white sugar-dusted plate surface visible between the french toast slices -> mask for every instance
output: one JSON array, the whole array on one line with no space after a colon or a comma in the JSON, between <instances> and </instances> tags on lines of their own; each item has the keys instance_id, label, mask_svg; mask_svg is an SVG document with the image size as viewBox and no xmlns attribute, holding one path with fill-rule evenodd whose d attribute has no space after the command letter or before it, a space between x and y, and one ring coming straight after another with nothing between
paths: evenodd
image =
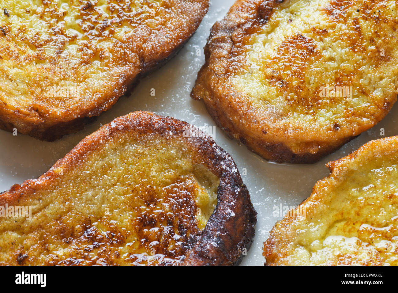
<instances>
[{"instance_id":1,"label":"white sugar-dusted plate surface visible between the french toast slices","mask_svg":"<svg viewBox=\"0 0 398 293\"><path fill-rule=\"evenodd\" d=\"M210 28L226 15L234 0L211 2L210 10L201 26L179 54L164 67L143 79L129 97L123 96L111 110L101 114L98 120L86 126L84 130L65 136L57 142L41 142L29 136L13 136L10 132L0 130L0 191L6 191L13 184L22 183L26 179L39 177L85 136L98 130L101 125L111 122L113 118L135 110L173 116L199 127L215 126L203 102L195 101L189 96L197 72L204 63L203 47ZM197 49L200 56L197 56ZM151 96L152 88L155 89L155 96ZM244 145L228 139L221 129L216 128L213 138L234 158L258 212L254 244L244 258L243 265L264 264L263 242L275 222L282 218L279 215L273 216L273 212L277 211L276 207L296 206L306 199L316 181L329 174L325 167L328 161L347 155L369 140L383 137L380 135L381 128L384 129L385 136L398 134L397 107L394 106L388 116L373 129L313 165L267 162L248 151Z\"/></svg>"}]
</instances>

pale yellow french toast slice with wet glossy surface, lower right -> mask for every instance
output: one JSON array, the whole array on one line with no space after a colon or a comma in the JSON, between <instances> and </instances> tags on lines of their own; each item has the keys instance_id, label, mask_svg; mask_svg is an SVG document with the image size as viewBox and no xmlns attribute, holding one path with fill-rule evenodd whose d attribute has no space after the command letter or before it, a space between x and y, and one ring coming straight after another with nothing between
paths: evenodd
<instances>
[{"instance_id":1,"label":"pale yellow french toast slice with wet glossy surface, lower right","mask_svg":"<svg viewBox=\"0 0 398 293\"><path fill-rule=\"evenodd\" d=\"M328 163L265 242L267 265L398 265L398 136Z\"/></svg>"}]
</instances>

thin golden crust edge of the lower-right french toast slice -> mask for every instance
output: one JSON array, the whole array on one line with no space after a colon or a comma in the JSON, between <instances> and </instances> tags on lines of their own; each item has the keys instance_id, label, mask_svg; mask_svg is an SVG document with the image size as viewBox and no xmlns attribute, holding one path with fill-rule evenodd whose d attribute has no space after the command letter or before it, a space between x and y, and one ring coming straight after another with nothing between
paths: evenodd
<instances>
[{"instance_id":1,"label":"thin golden crust edge of the lower-right french toast slice","mask_svg":"<svg viewBox=\"0 0 398 293\"><path fill-rule=\"evenodd\" d=\"M350 166L362 162L367 162L373 157L388 155L398 150L398 136L391 136L388 138L380 138L378 140L371 140L363 146L359 147L356 151L349 153L349 155L342 157L336 161L330 161L326 167L330 170L330 175L318 181L312 188L311 195L302 201L296 208L296 215L300 214L300 206L305 205L306 211L316 212L316 206L325 201L322 196L322 190L325 187L333 188L337 186L340 179L344 178L345 170ZM333 177L333 180L331 179ZM264 265L278 265L279 256L287 256L286 253L281 252L286 244L286 239L294 239L296 231L288 230L281 232L281 229L293 224L296 216L285 216L282 220L276 222L268 239L264 242L263 256L265 257ZM287 232L287 233L286 233ZM284 263L289 265L288 263Z\"/></svg>"}]
</instances>

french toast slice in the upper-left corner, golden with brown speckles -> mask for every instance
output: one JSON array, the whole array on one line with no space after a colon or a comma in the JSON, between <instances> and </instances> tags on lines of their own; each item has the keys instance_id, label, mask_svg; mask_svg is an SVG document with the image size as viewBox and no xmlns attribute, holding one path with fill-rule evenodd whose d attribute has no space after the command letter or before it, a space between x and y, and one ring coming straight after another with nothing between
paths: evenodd
<instances>
[{"instance_id":1,"label":"french toast slice in the upper-left corner, golden with brown speckles","mask_svg":"<svg viewBox=\"0 0 398 293\"><path fill-rule=\"evenodd\" d=\"M81 129L177 53L208 7L209 0L0 0L0 128L48 141Z\"/></svg>"}]
</instances>

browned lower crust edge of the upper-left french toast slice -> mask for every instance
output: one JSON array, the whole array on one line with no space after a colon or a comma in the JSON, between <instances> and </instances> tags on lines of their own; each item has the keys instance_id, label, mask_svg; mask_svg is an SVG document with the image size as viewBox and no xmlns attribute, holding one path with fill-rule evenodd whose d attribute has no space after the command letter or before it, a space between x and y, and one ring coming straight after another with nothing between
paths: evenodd
<instances>
[{"instance_id":1,"label":"browned lower crust edge of the upper-left french toast slice","mask_svg":"<svg viewBox=\"0 0 398 293\"><path fill-rule=\"evenodd\" d=\"M199 4L198 14L189 11L189 6L184 3L182 10L194 16L191 21L192 30L187 30L181 35L181 42L176 43L173 48L164 52L154 52L151 56L146 56L145 63L142 64L140 72L137 74L132 71L129 76L123 76L117 88L109 92L103 98L103 103L94 108L82 108L80 112L74 114L74 117L65 115L61 119L49 119L36 111L23 111L19 109L10 109L7 104L0 101L0 129L13 132L17 129L21 134L27 134L39 140L53 142L62 138L62 136L78 132L84 125L94 120L102 112L109 110L130 87L133 89L137 81L142 79L152 71L159 69L172 59L182 47L189 41L201 24L203 17L209 10L209 0L195 0Z\"/></svg>"}]
</instances>

